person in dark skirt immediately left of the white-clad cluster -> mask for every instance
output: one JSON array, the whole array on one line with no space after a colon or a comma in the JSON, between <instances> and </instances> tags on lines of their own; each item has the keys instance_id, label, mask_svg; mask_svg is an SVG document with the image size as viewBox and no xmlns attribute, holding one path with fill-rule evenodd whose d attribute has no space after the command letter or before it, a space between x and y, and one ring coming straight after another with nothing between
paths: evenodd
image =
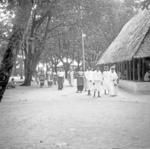
<instances>
[{"instance_id":1,"label":"person in dark skirt immediately left of the white-clad cluster","mask_svg":"<svg viewBox=\"0 0 150 149\"><path fill-rule=\"evenodd\" d=\"M82 71L79 71L77 74L77 93L82 92L84 87L84 74Z\"/></svg>"}]
</instances>

